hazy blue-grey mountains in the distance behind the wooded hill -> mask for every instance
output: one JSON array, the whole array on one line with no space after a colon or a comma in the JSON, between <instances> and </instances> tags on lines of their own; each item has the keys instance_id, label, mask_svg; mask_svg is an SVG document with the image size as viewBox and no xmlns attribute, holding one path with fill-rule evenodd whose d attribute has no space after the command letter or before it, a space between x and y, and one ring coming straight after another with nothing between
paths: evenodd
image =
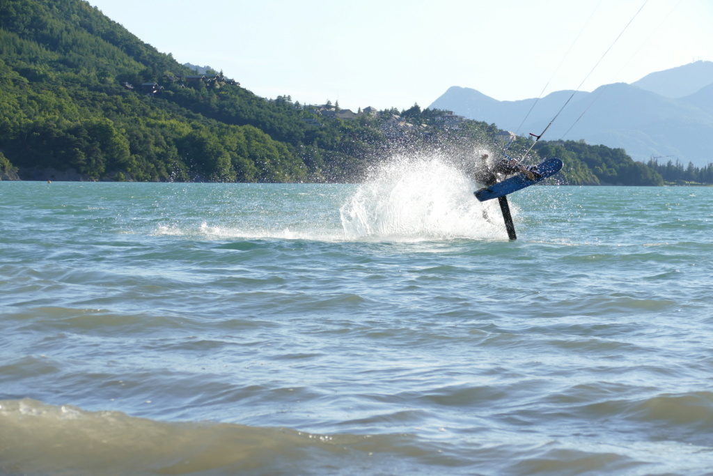
<instances>
[{"instance_id":1,"label":"hazy blue-grey mountains in the distance behind the wooded hill","mask_svg":"<svg viewBox=\"0 0 713 476\"><path fill-rule=\"evenodd\" d=\"M557 91L539 101L498 101L475 89L453 86L429 108L495 123L526 136L541 133L572 93ZM657 71L635 83L608 84L591 93L578 91L543 140L584 139L589 144L624 148L637 161L655 157L660 162L679 160L702 167L713 162L711 136L713 62L696 61Z\"/></svg>"}]
</instances>

